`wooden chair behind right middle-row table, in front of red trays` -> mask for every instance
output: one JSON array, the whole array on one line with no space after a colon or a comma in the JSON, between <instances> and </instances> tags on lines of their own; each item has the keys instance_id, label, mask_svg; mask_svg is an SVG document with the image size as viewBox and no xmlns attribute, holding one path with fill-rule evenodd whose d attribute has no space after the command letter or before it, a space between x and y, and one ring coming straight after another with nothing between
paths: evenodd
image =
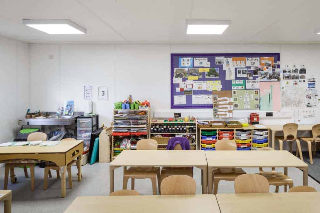
<instances>
[{"instance_id":1,"label":"wooden chair behind right middle-row table, in front of red trays","mask_svg":"<svg viewBox=\"0 0 320 213\"><path fill-rule=\"evenodd\" d=\"M234 140L218 140L215 145L216 150L237 150ZM246 174L241 168L218 168L213 171L213 194L218 193L220 180L234 181L239 175ZM212 187L212 183L209 183Z\"/></svg>"}]
</instances>

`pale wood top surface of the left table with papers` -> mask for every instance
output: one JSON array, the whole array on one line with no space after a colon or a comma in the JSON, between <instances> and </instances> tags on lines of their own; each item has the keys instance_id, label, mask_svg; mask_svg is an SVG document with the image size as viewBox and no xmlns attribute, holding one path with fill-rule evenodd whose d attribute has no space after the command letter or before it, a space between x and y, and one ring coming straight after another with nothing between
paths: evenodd
<instances>
[{"instance_id":1,"label":"pale wood top surface of the left table with papers","mask_svg":"<svg viewBox=\"0 0 320 213\"><path fill-rule=\"evenodd\" d=\"M56 146L11 146L0 147L1 154L65 153L82 141L62 141Z\"/></svg>"}]
</instances>

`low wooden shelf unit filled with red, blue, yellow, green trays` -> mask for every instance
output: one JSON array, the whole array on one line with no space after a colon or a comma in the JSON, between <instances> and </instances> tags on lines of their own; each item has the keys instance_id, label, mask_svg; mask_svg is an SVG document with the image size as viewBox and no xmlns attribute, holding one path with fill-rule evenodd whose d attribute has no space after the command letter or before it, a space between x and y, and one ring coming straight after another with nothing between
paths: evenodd
<instances>
[{"instance_id":1,"label":"low wooden shelf unit filled with red, blue, yellow, green trays","mask_svg":"<svg viewBox=\"0 0 320 213\"><path fill-rule=\"evenodd\" d=\"M211 134L210 134L211 133ZM269 147L269 128L257 128L253 125L242 128L199 128L199 144L202 150L215 150L217 140L234 140L237 150L259 150L262 147ZM205 135L215 139L202 140Z\"/></svg>"}]
</instances>

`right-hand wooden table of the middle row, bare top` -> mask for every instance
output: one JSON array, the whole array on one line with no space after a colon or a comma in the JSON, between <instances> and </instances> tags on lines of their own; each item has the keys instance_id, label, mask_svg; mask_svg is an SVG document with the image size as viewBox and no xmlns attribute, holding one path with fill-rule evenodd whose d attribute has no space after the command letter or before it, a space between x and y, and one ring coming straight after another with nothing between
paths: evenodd
<instances>
[{"instance_id":1,"label":"right-hand wooden table of the middle row, bare top","mask_svg":"<svg viewBox=\"0 0 320 213\"><path fill-rule=\"evenodd\" d=\"M303 185L308 186L308 164L286 150L275 151L205 151L208 162L209 194L212 194L212 172L218 168L283 167L288 175L288 167L303 171ZM285 186L286 187L286 186Z\"/></svg>"}]
</instances>

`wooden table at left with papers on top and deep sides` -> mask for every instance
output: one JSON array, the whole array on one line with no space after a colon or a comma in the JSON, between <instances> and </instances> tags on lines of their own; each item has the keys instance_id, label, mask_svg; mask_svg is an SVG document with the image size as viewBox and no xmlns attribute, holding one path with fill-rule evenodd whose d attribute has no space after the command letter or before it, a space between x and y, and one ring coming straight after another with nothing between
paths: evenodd
<instances>
[{"instance_id":1,"label":"wooden table at left with papers on top and deep sides","mask_svg":"<svg viewBox=\"0 0 320 213\"><path fill-rule=\"evenodd\" d=\"M60 166L61 171L61 197L66 196L66 171L67 165L78 157L79 175L81 181L81 159L83 141L62 141L56 146L12 146L0 147L0 163L16 162L16 159L36 159L51 161Z\"/></svg>"}]
</instances>

